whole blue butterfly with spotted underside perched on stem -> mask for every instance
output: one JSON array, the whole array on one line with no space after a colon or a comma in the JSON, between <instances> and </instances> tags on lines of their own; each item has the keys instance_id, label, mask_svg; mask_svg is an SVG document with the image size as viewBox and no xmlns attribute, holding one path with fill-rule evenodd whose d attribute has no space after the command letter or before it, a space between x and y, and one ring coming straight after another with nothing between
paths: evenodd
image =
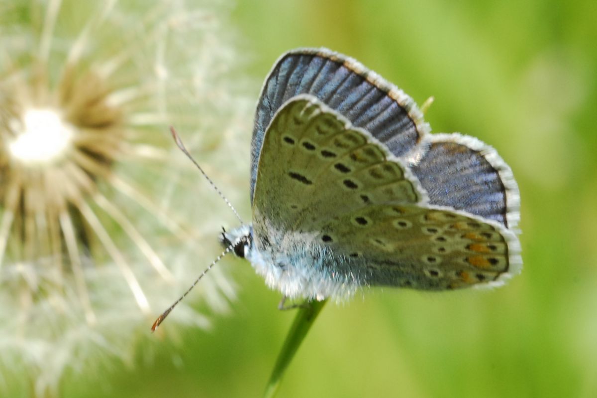
<instances>
[{"instance_id":1,"label":"whole blue butterfly with spotted underside perched on stem","mask_svg":"<svg viewBox=\"0 0 597 398\"><path fill-rule=\"evenodd\" d=\"M267 76L250 186L253 222L221 240L284 297L496 286L522 266L496 150L430 134L413 99L329 49L287 52Z\"/></svg>"}]
</instances>

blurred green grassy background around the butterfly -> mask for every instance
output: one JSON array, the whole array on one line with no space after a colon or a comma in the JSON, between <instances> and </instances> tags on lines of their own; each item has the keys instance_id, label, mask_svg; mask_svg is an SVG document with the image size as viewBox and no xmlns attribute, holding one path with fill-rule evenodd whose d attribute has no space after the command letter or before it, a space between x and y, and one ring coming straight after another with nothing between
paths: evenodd
<instances>
[{"instance_id":1,"label":"blurred green grassy background around the butterfly","mask_svg":"<svg viewBox=\"0 0 597 398\"><path fill-rule=\"evenodd\" d=\"M279 396L597 396L597 3L268 0L232 13L255 101L282 52L327 46L418 104L433 95L433 132L496 147L522 197L521 275L494 291L385 289L328 304ZM249 150L236 154L247 180ZM134 366L71 374L64 395L259 397L294 315L248 263L219 266L239 297L210 332L187 330L179 348L156 338Z\"/></svg>"}]
</instances>

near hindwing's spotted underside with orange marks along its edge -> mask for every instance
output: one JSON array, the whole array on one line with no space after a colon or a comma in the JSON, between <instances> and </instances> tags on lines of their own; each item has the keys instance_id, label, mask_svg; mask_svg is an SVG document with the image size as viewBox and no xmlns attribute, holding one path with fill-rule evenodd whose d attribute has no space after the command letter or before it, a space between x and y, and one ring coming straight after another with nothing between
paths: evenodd
<instances>
[{"instance_id":1,"label":"near hindwing's spotted underside with orange marks along its edge","mask_svg":"<svg viewBox=\"0 0 597 398\"><path fill-rule=\"evenodd\" d=\"M435 207L373 205L322 223L318 239L361 284L445 290L497 281L516 267L496 222ZM512 266L511 266L512 263Z\"/></svg>"}]
</instances>

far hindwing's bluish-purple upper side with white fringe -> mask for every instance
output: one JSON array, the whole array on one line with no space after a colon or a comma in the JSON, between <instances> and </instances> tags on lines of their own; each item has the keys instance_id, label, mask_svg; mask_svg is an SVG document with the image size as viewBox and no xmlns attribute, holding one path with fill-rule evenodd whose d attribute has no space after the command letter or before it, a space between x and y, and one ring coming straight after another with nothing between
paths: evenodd
<instances>
[{"instance_id":1,"label":"far hindwing's bluish-purple upper side with white fringe","mask_svg":"<svg viewBox=\"0 0 597 398\"><path fill-rule=\"evenodd\" d=\"M520 194L512 170L478 139L452 134L426 138L429 150L411 165L429 203L453 207L516 228Z\"/></svg>"}]
</instances>

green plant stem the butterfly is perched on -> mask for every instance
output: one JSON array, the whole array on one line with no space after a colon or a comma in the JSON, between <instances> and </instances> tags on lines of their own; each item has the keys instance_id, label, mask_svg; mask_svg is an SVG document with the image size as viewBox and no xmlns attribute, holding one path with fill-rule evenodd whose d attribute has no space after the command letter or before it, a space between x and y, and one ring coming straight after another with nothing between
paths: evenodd
<instances>
[{"instance_id":1,"label":"green plant stem the butterfly is perched on","mask_svg":"<svg viewBox=\"0 0 597 398\"><path fill-rule=\"evenodd\" d=\"M300 347L300 343L307 335L307 332L309 332L311 325L313 325L313 322L315 322L315 319L327 301L310 301L306 303L306 306L298 307L297 316L294 318L293 325L288 331L284 346L282 346L278 360L276 360L276 365L273 367L272 375L269 377L263 398L273 398L276 395L286 368L288 368L291 360L293 360L294 354L296 354L298 347Z\"/></svg>"}]
</instances>

